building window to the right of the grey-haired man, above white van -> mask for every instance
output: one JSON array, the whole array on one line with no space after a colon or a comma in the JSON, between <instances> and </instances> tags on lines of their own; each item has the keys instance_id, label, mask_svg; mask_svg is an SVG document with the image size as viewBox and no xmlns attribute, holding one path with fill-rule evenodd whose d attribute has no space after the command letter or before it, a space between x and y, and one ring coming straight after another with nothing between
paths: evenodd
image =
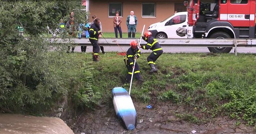
<instances>
[{"instance_id":1,"label":"building window to the right of the grey-haired man, above white van","mask_svg":"<svg viewBox=\"0 0 256 134\"><path fill-rule=\"evenodd\" d=\"M156 17L156 3L142 3L142 17Z\"/></svg>"}]
</instances>

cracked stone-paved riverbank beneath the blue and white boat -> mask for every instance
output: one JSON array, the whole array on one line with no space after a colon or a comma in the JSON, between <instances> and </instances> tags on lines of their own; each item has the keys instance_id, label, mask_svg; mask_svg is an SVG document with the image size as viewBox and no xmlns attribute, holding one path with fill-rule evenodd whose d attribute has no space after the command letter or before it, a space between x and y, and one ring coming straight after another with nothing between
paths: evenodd
<instances>
[{"instance_id":1,"label":"cracked stone-paved riverbank beneath the blue and white boat","mask_svg":"<svg viewBox=\"0 0 256 134\"><path fill-rule=\"evenodd\" d=\"M192 130L196 133L204 134L255 134L253 127L240 124L235 126L235 120L228 117L216 118L214 122L197 125L186 121L182 121L175 117L174 112L180 112L183 107L179 107L172 103L155 103L153 108L148 109L144 103L136 102L134 106L137 111L137 126L135 130L125 130L122 122L117 119L112 103L99 107L95 111L85 111L77 116L76 123L72 129L75 133L81 134L192 134Z\"/></svg>"}]
</instances>

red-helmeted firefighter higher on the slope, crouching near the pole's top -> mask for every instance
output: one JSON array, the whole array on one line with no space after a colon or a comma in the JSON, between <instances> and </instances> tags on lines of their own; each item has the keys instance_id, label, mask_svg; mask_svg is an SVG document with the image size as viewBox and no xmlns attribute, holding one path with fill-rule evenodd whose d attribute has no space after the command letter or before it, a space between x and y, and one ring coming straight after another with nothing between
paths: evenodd
<instances>
[{"instance_id":1,"label":"red-helmeted firefighter higher on the slope, crouching near the pole's top","mask_svg":"<svg viewBox=\"0 0 256 134\"><path fill-rule=\"evenodd\" d=\"M142 49L152 50L152 53L147 58L148 64L151 67L149 73L157 71L156 59L163 53L163 49L161 48L160 44L157 42L156 38L152 37L151 35L152 33L149 31L146 31L144 36L141 34L142 39L147 42L147 45L140 46Z\"/></svg>"}]
</instances>

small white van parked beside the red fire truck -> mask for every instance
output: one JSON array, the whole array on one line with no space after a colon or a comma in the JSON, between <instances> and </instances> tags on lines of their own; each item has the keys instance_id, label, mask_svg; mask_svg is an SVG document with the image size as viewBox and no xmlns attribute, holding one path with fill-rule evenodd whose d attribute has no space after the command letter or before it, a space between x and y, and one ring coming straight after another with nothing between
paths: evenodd
<instances>
[{"instance_id":1,"label":"small white van parked beside the red fire truck","mask_svg":"<svg viewBox=\"0 0 256 134\"><path fill-rule=\"evenodd\" d=\"M151 24L148 31L156 38L187 38L176 34L178 28L188 27L188 12L177 12L161 22Z\"/></svg>"}]
</instances>

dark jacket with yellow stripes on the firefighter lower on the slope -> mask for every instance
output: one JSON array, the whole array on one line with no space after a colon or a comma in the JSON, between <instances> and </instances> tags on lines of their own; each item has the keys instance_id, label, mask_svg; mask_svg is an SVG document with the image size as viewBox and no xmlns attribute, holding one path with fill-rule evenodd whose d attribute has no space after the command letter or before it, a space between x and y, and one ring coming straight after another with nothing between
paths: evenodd
<instances>
[{"instance_id":1,"label":"dark jacket with yellow stripes on the firefighter lower on the slope","mask_svg":"<svg viewBox=\"0 0 256 134\"><path fill-rule=\"evenodd\" d=\"M135 50L133 50L132 47L130 47L124 56L125 65L133 67L133 64L134 64L133 62L134 62L135 56L137 58L140 57L140 49L137 47Z\"/></svg>"}]
</instances>

